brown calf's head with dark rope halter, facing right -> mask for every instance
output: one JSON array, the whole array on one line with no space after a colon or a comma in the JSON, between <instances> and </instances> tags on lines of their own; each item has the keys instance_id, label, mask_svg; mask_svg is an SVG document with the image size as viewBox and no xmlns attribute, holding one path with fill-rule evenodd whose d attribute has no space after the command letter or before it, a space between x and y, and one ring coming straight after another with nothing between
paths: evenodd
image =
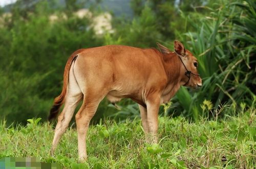
<instances>
[{"instance_id":1,"label":"brown calf's head with dark rope halter, facing right","mask_svg":"<svg viewBox=\"0 0 256 169\"><path fill-rule=\"evenodd\" d=\"M201 87L202 86L202 79L200 78L198 74L198 61L193 54L185 50L184 45L175 40L174 41L174 50L176 55L180 58L181 63L183 66L182 70L184 70L184 73L182 72L182 78L181 81L184 83L184 86L189 86L189 87Z\"/></svg>"}]
</instances>

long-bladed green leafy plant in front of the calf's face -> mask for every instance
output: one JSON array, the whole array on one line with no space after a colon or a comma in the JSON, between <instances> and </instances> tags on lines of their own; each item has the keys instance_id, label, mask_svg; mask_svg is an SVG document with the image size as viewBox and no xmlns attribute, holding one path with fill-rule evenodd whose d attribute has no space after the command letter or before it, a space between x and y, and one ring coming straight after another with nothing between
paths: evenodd
<instances>
[{"instance_id":1,"label":"long-bladed green leafy plant in front of the calf's face","mask_svg":"<svg viewBox=\"0 0 256 169\"><path fill-rule=\"evenodd\" d=\"M215 111L222 109L223 103L234 108L239 108L242 102L251 105L255 96L255 89L251 87L256 82L252 59L256 48L251 40L255 29L251 29L248 20L256 19L253 16L256 6L252 1L246 4L224 2L220 6L218 12L209 9L210 17L199 18L200 25L186 17L189 25L198 31L180 35L188 49L198 56L199 73L203 78L202 89L192 95L186 88L177 93L178 101L195 120L199 115L209 117L210 112L215 117ZM238 15L241 12L243 16ZM205 99L214 103L214 109L208 113L200 106ZM234 115L232 112L226 113Z\"/></svg>"}]
</instances>

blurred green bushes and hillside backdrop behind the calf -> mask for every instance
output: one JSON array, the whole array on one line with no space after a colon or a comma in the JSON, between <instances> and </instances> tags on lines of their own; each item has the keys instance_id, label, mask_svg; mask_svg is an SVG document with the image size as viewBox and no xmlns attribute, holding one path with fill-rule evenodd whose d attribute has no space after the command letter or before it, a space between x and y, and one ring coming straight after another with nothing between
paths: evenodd
<instances>
[{"instance_id":1,"label":"blurred green bushes and hillside backdrop behind the calf","mask_svg":"<svg viewBox=\"0 0 256 169\"><path fill-rule=\"evenodd\" d=\"M107 44L150 48L156 42L173 50L175 39L198 58L203 87L182 87L160 107L161 115L197 121L255 108L253 0L1 0L0 5L0 119L8 124L47 119L75 50ZM121 110L103 100L92 123L139 116L131 100L118 105Z\"/></svg>"}]
</instances>

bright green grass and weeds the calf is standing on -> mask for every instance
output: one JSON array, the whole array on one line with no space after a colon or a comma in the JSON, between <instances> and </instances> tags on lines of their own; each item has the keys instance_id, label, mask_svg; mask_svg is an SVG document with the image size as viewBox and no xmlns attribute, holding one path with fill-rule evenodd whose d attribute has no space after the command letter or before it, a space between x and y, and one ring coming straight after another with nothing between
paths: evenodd
<instances>
[{"instance_id":1,"label":"bright green grass and weeds the calf is standing on","mask_svg":"<svg viewBox=\"0 0 256 169\"><path fill-rule=\"evenodd\" d=\"M102 120L90 126L89 159L77 161L74 124L63 135L55 156L49 155L53 126L29 119L26 127L0 126L0 158L40 157L63 168L255 168L255 109L225 120L190 123L159 117L159 144L144 142L141 120Z\"/></svg>"}]
</instances>

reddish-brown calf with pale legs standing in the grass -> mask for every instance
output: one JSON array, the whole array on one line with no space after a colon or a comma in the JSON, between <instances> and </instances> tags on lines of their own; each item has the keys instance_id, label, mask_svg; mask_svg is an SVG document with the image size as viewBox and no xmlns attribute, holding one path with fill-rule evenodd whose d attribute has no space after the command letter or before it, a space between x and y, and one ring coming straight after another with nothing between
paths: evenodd
<instances>
[{"instance_id":1,"label":"reddish-brown calf with pale legs standing in the grass","mask_svg":"<svg viewBox=\"0 0 256 169\"><path fill-rule=\"evenodd\" d=\"M202 80L197 71L197 59L179 41L175 52L158 44L156 49L107 45L74 52L68 59L63 75L63 89L55 98L49 119L55 118L60 106L51 153L75 115L78 133L78 155L87 159L86 135L90 120L106 96L112 103L131 98L139 104L146 141L157 142L158 110L169 102L181 85L197 87Z\"/></svg>"}]
</instances>

